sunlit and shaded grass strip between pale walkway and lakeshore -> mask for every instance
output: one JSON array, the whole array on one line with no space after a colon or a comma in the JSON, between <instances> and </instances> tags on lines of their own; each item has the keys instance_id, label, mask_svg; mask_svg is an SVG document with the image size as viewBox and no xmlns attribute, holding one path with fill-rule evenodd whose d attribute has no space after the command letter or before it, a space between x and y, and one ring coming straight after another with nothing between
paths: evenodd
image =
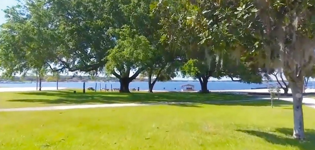
<instances>
[{"instance_id":1,"label":"sunlit and shaded grass strip between pale walkway and lakeshore","mask_svg":"<svg viewBox=\"0 0 315 150\"><path fill-rule=\"evenodd\" d=\"M0 108L40 107L67 104L110 104L110 103L141 103L141 102L198 102L217 100L248 99L245 95L231 94L199 94L199 93L144 93L135 92L122 94L118 92L82 93L82 89L73 94L73 90L37 91L37 92L0 92Z\"/></svg>"}]
</instances>

